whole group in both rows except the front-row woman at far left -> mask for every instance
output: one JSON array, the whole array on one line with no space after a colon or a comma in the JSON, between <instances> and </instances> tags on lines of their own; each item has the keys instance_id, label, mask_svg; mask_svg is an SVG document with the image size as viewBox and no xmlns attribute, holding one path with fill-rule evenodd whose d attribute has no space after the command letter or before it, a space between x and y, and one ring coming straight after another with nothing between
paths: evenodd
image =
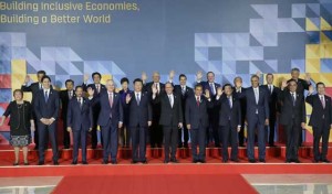
<instances>
[{"instance_id":1,"label":"whole group in both rows except the front-row woman at far left","mask_svg":"<svg viewBox=\"0 0 332 194\"><path fill-rule=\"evenodd\" d=\"M129 80L122 78L122 89L117 91L112 79L101 84L102 75L93 73L93 84L83 85L65 82L65 90L58 93L51 86L51 78L45 72L38 72L39 82L22 86L24 91L32 91L33 115L38 132L35 143L39 149L39 164L44 163L44 149L50 138L53 150L53 163L59 164L56 144L56 121L60 108L64 121L64 149L70 147L70 133L73 133L73 161L77 163L81 143L82 163L86 161L86 137L91 133L92 148L97 146L97 130L101 130L103 164L110 161L116 164L118 137L123 146L132 142L133 163L147 163L146 144L160 148L164 144L164 162L177 163L177 148L188 148L190 134L193 162L206 162L205 149L210 143L222 147L222 162L229 158L239 162L238 146L247 144L247 155L251 163L255 159L255 143L259 147L259 162L266 162L266 140L274 147L276 122L283 126L287 134L286 162L300 162L298 149L301 146L302 129L305 128L305 105L313 107L309 125L313 127L314 162L329 162L326 159L329 132L332 127L331 98L325 95L324 84L318 83L318 94L313 94L310 76L299 78L300 71L293 68L292 78L282 82L281 88L273 85L273 74L266 75L266 85L259 85L260 76L251 76L251 86L242 87L242 78L236 77L234 86L221 87L215 83L215 74L207 73L207 82L197 75L194 89L187 84L187 77L179 75L179 84L160 83L159 73L153 74L153 80L146 83L146 76L133 82L134 89L128 88ZM304 97L304 89L309 95ZM85 97L87 94L87 98ZM61 100L61 104L59 103ZM245 138L247 126L247 140ZM101 129L98 129L98 127ZM122 132L122 131L126 132ZM269 131L269 133L268 133ZM269 134L269 136L268 136ZM147 139L149 137L149 139ZM320 139L323 140L322 152L319 151ZM229 157L228 146L231 146ZM197 151L199 148L199 152Z\"/></svg>"}]
</instances>

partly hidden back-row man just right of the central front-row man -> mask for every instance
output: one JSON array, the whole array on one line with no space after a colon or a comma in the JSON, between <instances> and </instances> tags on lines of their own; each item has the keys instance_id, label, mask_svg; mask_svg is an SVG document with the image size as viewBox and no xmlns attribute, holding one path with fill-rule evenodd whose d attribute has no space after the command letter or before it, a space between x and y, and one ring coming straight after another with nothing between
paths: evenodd
<instances>
[{"instance_id":1,"label":"partly hidden back-row man just right of the central front-row man","mask_svg":"<svg viewBox=\"0 0 332 194\"><path fill-rule=\"evenodd\" d=\"M183 115L184 115L184 122L183 128L178 130L178 148L188 148L188 140L189 140L189 132L186 125L186 100L189 96L194 95L194 90L191 87L187 86L187 76L185 74L179 75L179 85L174 86L174 91L181 98L181 106L183 106ZM183 131L184 131L184 142L183 142Z\"/></svg>"}]
</instances>

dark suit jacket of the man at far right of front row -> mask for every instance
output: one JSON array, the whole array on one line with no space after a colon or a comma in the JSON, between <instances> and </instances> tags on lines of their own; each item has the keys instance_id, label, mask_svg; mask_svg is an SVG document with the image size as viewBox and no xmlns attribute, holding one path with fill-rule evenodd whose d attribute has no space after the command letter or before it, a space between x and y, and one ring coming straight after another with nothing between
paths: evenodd
<instances>
[{"instance_id":1,"label":"dark suit jacket of the man at far right of front row","mask_svg":"<svg viewBox=\"0 0 332 194\"><path fill-rule=\"evenodd\" d=\"M325 127L330 129L330 125L332 125L331 97L324 95L324 99L325 108L323 108L323 105L318 94L307 96L305 101L312 106L309 126L320 128L325 122Z\"/></svg>"}]
</instances>

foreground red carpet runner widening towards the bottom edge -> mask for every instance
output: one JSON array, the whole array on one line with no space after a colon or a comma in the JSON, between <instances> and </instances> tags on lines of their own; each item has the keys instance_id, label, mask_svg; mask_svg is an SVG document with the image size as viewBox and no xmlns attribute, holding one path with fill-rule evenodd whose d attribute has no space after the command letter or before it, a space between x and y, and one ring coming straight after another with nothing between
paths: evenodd
<instances>
[{"instance_id":1,"label":"foreground red carpet runner widening towards the bottom edge","mask_svg":"<svg viewBox=\"0 0 332 194\"><path fill-rule=\"evenodd\" d=\"M256 194L239 174L65 176L53 194Z\"/></svg>"}]
</instances>

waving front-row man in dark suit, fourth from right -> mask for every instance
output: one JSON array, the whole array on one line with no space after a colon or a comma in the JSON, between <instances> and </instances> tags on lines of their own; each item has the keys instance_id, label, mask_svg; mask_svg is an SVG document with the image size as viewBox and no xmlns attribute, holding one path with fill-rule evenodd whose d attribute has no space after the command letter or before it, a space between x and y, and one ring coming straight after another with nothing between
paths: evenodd
<instances>
[{"instance_id":1,"label":"waving front-row man in dark suit, fourth from right","mask_svg":"<svg viewBox=\"0 0 332 194\"><path fill-rule=\"evenodd\" d=\"M222 141L222 162L228 162L228 144L231 144L231 158L234 162L239 162L238 159L238 131L241 129L241 108L240 101L232 96L232 87L230 84L224 86L222 89L217 89L216 103L219 105L219 126L220 140ZM222 138L221 138L222 137Z\"/></svg>"}]
</instances>

